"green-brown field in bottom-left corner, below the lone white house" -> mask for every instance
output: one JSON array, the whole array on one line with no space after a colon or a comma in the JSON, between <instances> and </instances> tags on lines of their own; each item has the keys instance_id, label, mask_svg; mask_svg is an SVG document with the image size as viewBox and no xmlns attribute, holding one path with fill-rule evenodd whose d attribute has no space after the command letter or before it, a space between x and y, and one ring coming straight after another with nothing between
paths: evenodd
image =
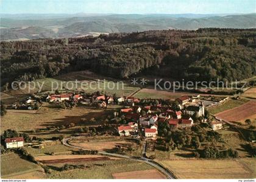
<instances>
[{"instance_id":1,"label":"green-brown field in bottom-left corner, below the lone white house","mask_svg":"<svg viewBox=\"0 0 256 182\"><path fill-rule=\"evenodd\" d=\"M15 153L1 155L1 177L19 175L36 170L41 170L41 167L25 159L21 159Z\"/></svg>"}]
</instances>

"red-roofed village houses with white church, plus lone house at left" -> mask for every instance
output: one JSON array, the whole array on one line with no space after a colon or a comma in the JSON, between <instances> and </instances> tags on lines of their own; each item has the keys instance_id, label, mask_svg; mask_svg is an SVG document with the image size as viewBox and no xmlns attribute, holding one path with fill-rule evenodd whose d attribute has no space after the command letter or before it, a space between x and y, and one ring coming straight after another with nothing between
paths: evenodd
<instances>
[{"instance_id":1,"label":"red-roofed village houses with white church, plus lone house at left","mask_svg":"<svg viewBox=\"0 0 256 182\"><path fill-rule=\"evenodd\" d=\"M205 99L205 98L204 98ZM224 100L227 98L224 98ZM206 99L205 99L206 100ZM135 97L113 97L95 92L85 93L59 93L34 95L22 103L13 103L9 109L38 110L44 102L57 104L59 108L72 109L77 106L92 108L107 108L109 105L119 105L123 108L113 111L113 120L119 121L115 127L115 135L133 136L156 140L158 124L166 123L176 130L194 125L194 120L209 123L212 130L222 128L222 122L208 119L204 101L200 95L182 96L174 101L163 99L138 99ZM222 100L221 100L222 101ZM121 121L121 122L120 122ZM23 138L5 139L6 147L21 147Z\"/></svg>"}]
</instances>

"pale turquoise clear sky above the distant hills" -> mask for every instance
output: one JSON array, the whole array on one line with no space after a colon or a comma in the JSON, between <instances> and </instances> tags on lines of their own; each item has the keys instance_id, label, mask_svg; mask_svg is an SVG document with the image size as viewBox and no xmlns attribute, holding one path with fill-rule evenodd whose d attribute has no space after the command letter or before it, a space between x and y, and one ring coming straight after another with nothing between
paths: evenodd
<instances>
[{"instance_id":1,"label":"pale turquoise clear sky above the distant hills","mask_svg":"<svg viewBox=\"0 0 256 182\"><path fill-rule=\"evenodd\" d=\"M256 0L0 0L0 13L256 13Z\"/></svg>"}]
</instances>

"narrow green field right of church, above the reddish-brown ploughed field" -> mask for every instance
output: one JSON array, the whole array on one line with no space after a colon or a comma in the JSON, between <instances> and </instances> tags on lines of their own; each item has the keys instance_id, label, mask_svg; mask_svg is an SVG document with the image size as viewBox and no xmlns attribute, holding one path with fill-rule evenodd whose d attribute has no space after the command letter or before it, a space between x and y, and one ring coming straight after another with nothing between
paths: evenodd
<instances>
[{"instance_id":1,"label":"narrow green field right of church, above the reddish-brown ploughed field","mask_svg":"<svg viewBox=\"0 0 256 182\"><path fill-rule=\"evenodd\" d=\"M222 111L230 110L232 108L238 107L240 105L243 105L244 103L248 102L247 99L240 99L240 100L227 100L226 102L222 103L221 105L218 105L216 107L208 108L208 111L211 114L217 114L221 113Z\"/></svg>"}]
</instances>

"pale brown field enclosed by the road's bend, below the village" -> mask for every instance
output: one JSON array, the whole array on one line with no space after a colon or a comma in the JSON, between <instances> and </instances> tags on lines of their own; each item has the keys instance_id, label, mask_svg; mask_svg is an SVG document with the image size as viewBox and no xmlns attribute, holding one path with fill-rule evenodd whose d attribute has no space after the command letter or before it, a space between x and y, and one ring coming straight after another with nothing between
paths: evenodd
<instances>
[{"instance_id":1,"label":"pale brown field enclosed by the road's bend, below the village","mask_svg":"<svg viewBox=\"0 0 256 182\"><path fill-rule=\"evenodd\" d=\"M126 144L134 144L133 142L118 140L118 141L69 141L70 144L82 147L84 149L89 150L109 150L113 149L115 145L126 145Z\"/></svg>"}]
</instances>

